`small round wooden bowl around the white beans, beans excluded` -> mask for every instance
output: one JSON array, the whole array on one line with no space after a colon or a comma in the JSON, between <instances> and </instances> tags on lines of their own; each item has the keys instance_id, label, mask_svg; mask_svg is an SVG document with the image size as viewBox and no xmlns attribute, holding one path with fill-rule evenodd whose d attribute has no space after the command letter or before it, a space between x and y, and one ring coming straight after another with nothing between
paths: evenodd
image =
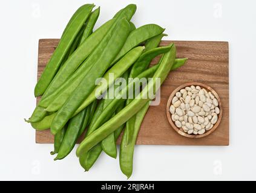
<instances>
[{"instance_id":1,"label":"small round wooden bowl around the white beans, beans excluded","mask_svg":"<svg viewBox=\"0 0 256 193\"><path fill-rule=\"evenodd\" d=\"M214 124L214 126L211 128L211 130L208 130L206 131L204 134L187 134L183 131L182 128L178 128L176 127L176 125L174 124L174 122L172 121L171 119L171 113L169 112L169 107L171 106L171 101L172 101L172 98L175 96L176 92L178 92L180 89L183 89L185 88L186 86L200 86L201 88L204 88L206 89L208 92L212 92L215 96L215 98L218 100L218 108L220 109L220 113L218 114L218 121ZM214 89L212 89L211 87L207 86L206 84L203 84L203 83L196 83L196 82L193 82L193 83L185 83L185 84L182 84L181 86L177 87L172 93L171 95L169 96L169 99L168 99L168 102L167 102L167 105L166 105L166 115L167 115L167 118L168 118L168 121L169 123L171 124L171 127L177 132L179 133L180 135L182 136L185 136L186 138L203 138L205 136L208 136L209 134L211 134L212 132L215 131L215 129L218 127L218 125L220 124L220 121L222 120L222 113L223 113L223 110L222 110L222 103L220 101L220 97L218 96L217 92L215 92Z\"/></svg>"}]
</instances>

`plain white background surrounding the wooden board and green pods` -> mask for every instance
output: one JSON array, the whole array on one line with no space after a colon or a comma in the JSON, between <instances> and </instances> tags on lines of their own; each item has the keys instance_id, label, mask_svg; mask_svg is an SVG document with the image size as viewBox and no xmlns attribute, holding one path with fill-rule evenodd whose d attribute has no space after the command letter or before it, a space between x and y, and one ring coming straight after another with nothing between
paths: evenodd
<instances>
[{"instance_id":1,"label":"plain white background surrounding the wooden board and green pods","mask_svg":"<svg viewBox=\"0 0 256 193\"><path fill-rule=\"evenodd\" d=\"M171 40L229 42L230 145L137 145L130 180L256 180L255 1L0 1L0 180L126 180L119 160L102 154L89 172L74 151L53 161L23 118L33 112L38 39L59 38L76 9L100 5L96 27L129 3L137 27L156 23Z\"/></svg>"}]
</instances>

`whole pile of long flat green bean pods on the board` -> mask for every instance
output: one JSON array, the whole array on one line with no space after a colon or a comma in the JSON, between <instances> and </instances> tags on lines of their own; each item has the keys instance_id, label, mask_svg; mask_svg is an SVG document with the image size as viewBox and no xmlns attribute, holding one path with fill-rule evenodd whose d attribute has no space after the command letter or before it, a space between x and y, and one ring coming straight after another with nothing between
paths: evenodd
<instances>
[{"instance_id":1,"label":"whole pile of long flat green bean pods on the board","mask_svg":"<svg viewBox=\"0 0 256 193\"><path fill-rule=\"evenodd\" d=\"M176 59L173 43L159 46L167 36L164 28L136 28L131 22L136 5L117 11L97 29L100 7L94 6L82 5L71 17L34 88L41 100L25 121L36 130L50 128L54 160L64 159L82 141L76 155L85 171L102 152L116 159L120 138L119 165L129 178L137 134L152 100L149 90L155 96L157 78L162 84L187 59ZM150 66L157 56L159 62Z\"/></svg>"}]
</instances>

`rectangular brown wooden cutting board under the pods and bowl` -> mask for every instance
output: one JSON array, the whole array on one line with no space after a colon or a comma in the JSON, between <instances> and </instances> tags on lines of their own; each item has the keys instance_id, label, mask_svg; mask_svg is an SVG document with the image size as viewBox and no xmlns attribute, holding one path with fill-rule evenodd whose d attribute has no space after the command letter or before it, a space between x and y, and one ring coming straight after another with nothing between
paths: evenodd
<instances>
[{"instance_id":1,"label":"rectangular brown wooden cutting board under the pods and bowl","mask_svg":"<svg viewBox=\"0 0 256 193\"><path fill-rule=\"evenodd\" d=\"M38 78L45 68L59 39L40 39L38 51ZM177 57L188 57L188 62L170 72L161 87L159 106L149 107L137 138L145 145L229 145L229 49L228 42L162 41L161 46L174 42ZM156 64L159 58L153 60ZM172 90L183 83L200 82L211 86L220 96L223 117L218 128L205 138L180 136L171 128L166 117L166 103ZM39 100L39 98L38 98ZM36 143L53 143L49 130L36 131ZM120 139L118 141L120 143Z\"/></svg>"}]
</instances>

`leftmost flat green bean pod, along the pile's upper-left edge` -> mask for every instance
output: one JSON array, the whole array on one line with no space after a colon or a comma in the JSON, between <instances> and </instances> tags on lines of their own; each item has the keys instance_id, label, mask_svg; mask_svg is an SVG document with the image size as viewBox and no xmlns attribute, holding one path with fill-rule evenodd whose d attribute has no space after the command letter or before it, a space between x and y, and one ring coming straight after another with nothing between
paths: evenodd
<instances>
[{"instance_id":1,"label":"leftmost flat green bean pod, along the pile's upper-left edge","mask_svg":"<svg viewBox=\"0 0 256 193\"><path fill-rule=\"evenodd\" d=\"M53 80L53 77L58 71L62 60L65 57L65 54L67 54L67 51L70 48L74 38L76 37L77 33L79 33L80 28L82 28L84 22L87 20L87 17L90 15L93 7L93 4L83 5L83 11L77 14L76 18L73 19L70 26L65 31L64 36L57 45L57 48L55 49L50 61L45 67L44 72L42 73L38 83L36 84L36 87L34 88L35 96L42 95L51 83L51 80Z\"/></svg>"}]
</instances>

